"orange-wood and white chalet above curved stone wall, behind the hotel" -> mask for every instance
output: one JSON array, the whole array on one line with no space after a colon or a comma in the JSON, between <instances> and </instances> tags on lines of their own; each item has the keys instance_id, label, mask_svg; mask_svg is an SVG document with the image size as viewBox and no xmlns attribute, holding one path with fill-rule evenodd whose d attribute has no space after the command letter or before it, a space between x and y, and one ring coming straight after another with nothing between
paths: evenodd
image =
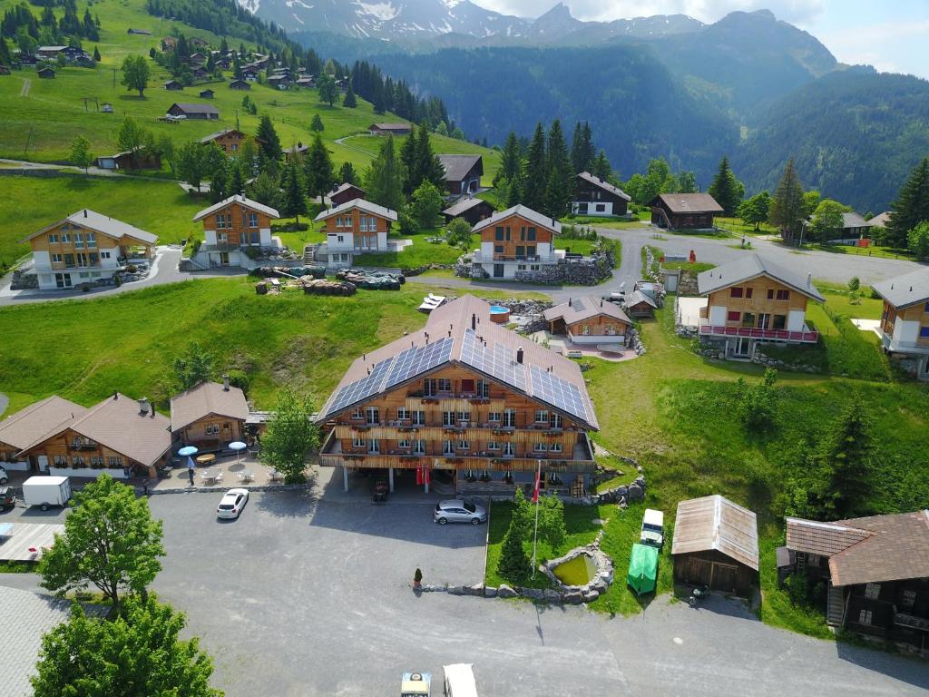
<instances>
[{"instance_id":1,"label":"orange-wood and white chalet above curved stone wall, behind the hotel","mask_svg":"<svg viewBox=\"0 0 929 697\"><path fill-rule=\"evenodd\" d=\"M537 271L565 257L555 249L561 223L525 205L515 205L478 222L480 249L471 256L472 275L518 279L520 271Z\"/></svg>"}]
</instances>

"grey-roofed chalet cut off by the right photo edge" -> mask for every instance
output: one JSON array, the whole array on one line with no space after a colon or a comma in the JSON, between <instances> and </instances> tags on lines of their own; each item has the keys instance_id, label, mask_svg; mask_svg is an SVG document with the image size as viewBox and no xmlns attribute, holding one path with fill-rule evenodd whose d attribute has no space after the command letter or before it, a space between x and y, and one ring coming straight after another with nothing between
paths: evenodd
<instances>
[{"instance_id":1,"label":"grey-roofed chalet cut off by the right photo edge","mask_svg":"<svg viewBox=\"0 0 929 697\"><path fill-rule=\"evenodd\" d=\"M911 271L871 288L883 298L878 334L900 368L929 380L929 269Z\"/></svg>"}]
</instances>

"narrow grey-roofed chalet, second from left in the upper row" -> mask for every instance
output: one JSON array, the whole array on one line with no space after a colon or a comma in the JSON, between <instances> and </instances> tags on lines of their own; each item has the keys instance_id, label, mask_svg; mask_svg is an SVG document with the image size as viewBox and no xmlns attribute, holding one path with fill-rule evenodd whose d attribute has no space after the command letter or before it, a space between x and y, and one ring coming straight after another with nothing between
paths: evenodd
<instances>
[{"instance_id":1,"label":"narrow grey-roofed chalet, second from left in the upper row","mask_svg":"<svg viewBox=\"0 0 929 697\"><path fill-rule=\"evenodd\" d=\"M273 246L271 220L281 215L267 205L245 198L242 194L204 208L193 217L203 220L205 242L190 259L203 269L254 265L249 254L257 256L262 249Z\"/></svg>"}]
</instances>

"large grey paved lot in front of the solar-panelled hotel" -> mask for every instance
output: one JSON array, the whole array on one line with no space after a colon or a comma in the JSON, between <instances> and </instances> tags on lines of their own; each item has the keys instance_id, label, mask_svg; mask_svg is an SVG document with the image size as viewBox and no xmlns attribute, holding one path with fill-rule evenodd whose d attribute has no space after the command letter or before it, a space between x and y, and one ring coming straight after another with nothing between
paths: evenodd
<instances>
[{"instance_id":1,"label":"large grey paved lot in front of the solar-panelled hotel","mask_svg":"<svg viewBox=\"0 0 929 697\"><path fill-rule=\"evenodd\" d=\"M581 608L424 594L477 581L483 526L439 528L431 503L373 506L328 492L255 493L242 519L214 518L216 496L150 499L168 557L154 587L187 612L215 657L214 683L252 694L390 694L406 669L475 664L491 697L588 695L917 695L922 662L762 625L738 601L700 610L659 598L608 619ZM15 576L13 578L12 576ZM0 584L33 589L28 574Z\"/></svg>"}]
</instances>

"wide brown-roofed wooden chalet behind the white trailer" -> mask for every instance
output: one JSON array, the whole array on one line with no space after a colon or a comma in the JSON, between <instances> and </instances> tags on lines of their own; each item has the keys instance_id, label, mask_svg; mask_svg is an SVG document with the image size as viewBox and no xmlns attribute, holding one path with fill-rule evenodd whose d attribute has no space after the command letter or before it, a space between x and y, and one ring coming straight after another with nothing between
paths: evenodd
<instances>
[{"instance_id":1,"label":"wide brown-roofed wooden chalet behind the white trailer","mask_svg":"<svg viewBox=\"0 0 929 697\"><path fill-rule=\"evenodd\" d=\"M171 422L146 399L114 392L83 413L74 414L22 448L39 469L63 477L124 477L123 468L157 476L171 449Z\"/></svg>"}]
</instances>

